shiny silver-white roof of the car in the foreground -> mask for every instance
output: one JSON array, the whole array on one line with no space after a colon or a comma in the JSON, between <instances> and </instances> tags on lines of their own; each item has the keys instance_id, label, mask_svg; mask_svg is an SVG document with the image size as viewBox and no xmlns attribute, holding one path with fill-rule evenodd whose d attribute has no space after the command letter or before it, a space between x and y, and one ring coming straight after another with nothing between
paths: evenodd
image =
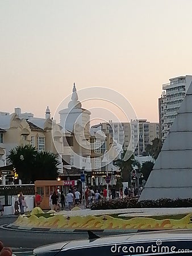
<instances>
[{"instance_id":1,"label":"shiny silver-white roof of the car in the foreground","mask_svg":"<svg viewBox=\"0 0 192 256\"><path fill-rule=\"evenodd\" d=\"M139 243L152 241L192 240L192 229L161 230L156 232L141 232L117 236L101 237L93 240L74 240L68 242L63 250L76 249L87 246L114 245L118 243Z\"/></svg>"}]
</instances>

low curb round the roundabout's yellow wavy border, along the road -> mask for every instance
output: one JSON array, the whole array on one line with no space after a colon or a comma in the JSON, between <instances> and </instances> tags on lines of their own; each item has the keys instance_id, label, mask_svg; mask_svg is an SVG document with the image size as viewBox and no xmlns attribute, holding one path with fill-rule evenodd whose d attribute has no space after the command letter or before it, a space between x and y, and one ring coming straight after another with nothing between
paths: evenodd
<instances>
[{"instance_id":1,"label":"low curb round the roundabout's yellow wavy border, along the road","mask_svg":"<svg viewBox=\"0 0 192 256\"><path fill-rule=\"evenodd\" d=\"M58 232L58 233L87 233L87 229L49 229L49 228L31 228L26 226L16 226L12 224L5 224L1 226L3 229L18 230L18 231L29 231L29 232ZM137 229L91 229L93 233L114 233L114 234L124 234L124 233L138 233L146 232L147 230L137 230ZM154 231L154 230L153 230Z\"/></svg>"}]
</instances>

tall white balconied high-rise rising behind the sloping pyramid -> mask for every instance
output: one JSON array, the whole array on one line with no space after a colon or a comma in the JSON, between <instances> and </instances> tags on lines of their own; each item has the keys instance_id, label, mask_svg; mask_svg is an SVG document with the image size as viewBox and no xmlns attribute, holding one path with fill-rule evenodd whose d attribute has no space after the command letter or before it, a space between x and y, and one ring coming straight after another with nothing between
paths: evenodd
<instances>
[{"instance_id":1,"label":"tall white balconied high-rise rising behind the sloping pyramid","mask_svg":"<svg viewBox=\"0 0 192 256\"><path fill-rule=\"evenodd\" d=\"M192 81L192 76L179 76L169 79L169 83L162 85L161 98L158 99L158 113L160 136L165 141L170 127L176 118L178 109Z\"/></svg>"}]
</instances>

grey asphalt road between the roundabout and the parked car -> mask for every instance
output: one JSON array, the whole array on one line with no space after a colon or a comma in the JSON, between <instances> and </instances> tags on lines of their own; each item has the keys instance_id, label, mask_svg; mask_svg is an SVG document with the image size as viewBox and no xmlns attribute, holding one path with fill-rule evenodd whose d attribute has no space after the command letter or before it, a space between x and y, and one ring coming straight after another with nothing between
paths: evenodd
<instances>
[{"instance_id":1,"label":"grey asphalt road between the roundabout and the parked car","mask_svg":"<svg viewBox=\"0 0 192 256\"><path fill-rule=\"evenodd\" d=\"M14 222L16 218L0 218L0 226ZM110 234L99 234L109 236ZM5 246L12 248L14 254L19 256L32 255L32 250L38 246L48 243L86 239L87 233L51 233L51 232L29 232L22 230L0 229L0 240Z\"/></svg>"}]
</instances>

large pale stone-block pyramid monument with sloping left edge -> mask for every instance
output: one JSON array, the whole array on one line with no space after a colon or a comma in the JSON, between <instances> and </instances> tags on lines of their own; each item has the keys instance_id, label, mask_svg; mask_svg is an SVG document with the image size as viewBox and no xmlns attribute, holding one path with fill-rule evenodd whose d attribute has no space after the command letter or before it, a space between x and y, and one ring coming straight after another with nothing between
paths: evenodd
<instances>
[{"instance_id":1,"label":"large pale stone-block pyramid monument with sloping left edge","mask_svg":"<svg viewBox=\"0 0 192 256\"><path fill-rule=\"evenodd\" d=\"M192 82L170 128L141 200L192 196Z\"/></svg>"}]
</instances>

